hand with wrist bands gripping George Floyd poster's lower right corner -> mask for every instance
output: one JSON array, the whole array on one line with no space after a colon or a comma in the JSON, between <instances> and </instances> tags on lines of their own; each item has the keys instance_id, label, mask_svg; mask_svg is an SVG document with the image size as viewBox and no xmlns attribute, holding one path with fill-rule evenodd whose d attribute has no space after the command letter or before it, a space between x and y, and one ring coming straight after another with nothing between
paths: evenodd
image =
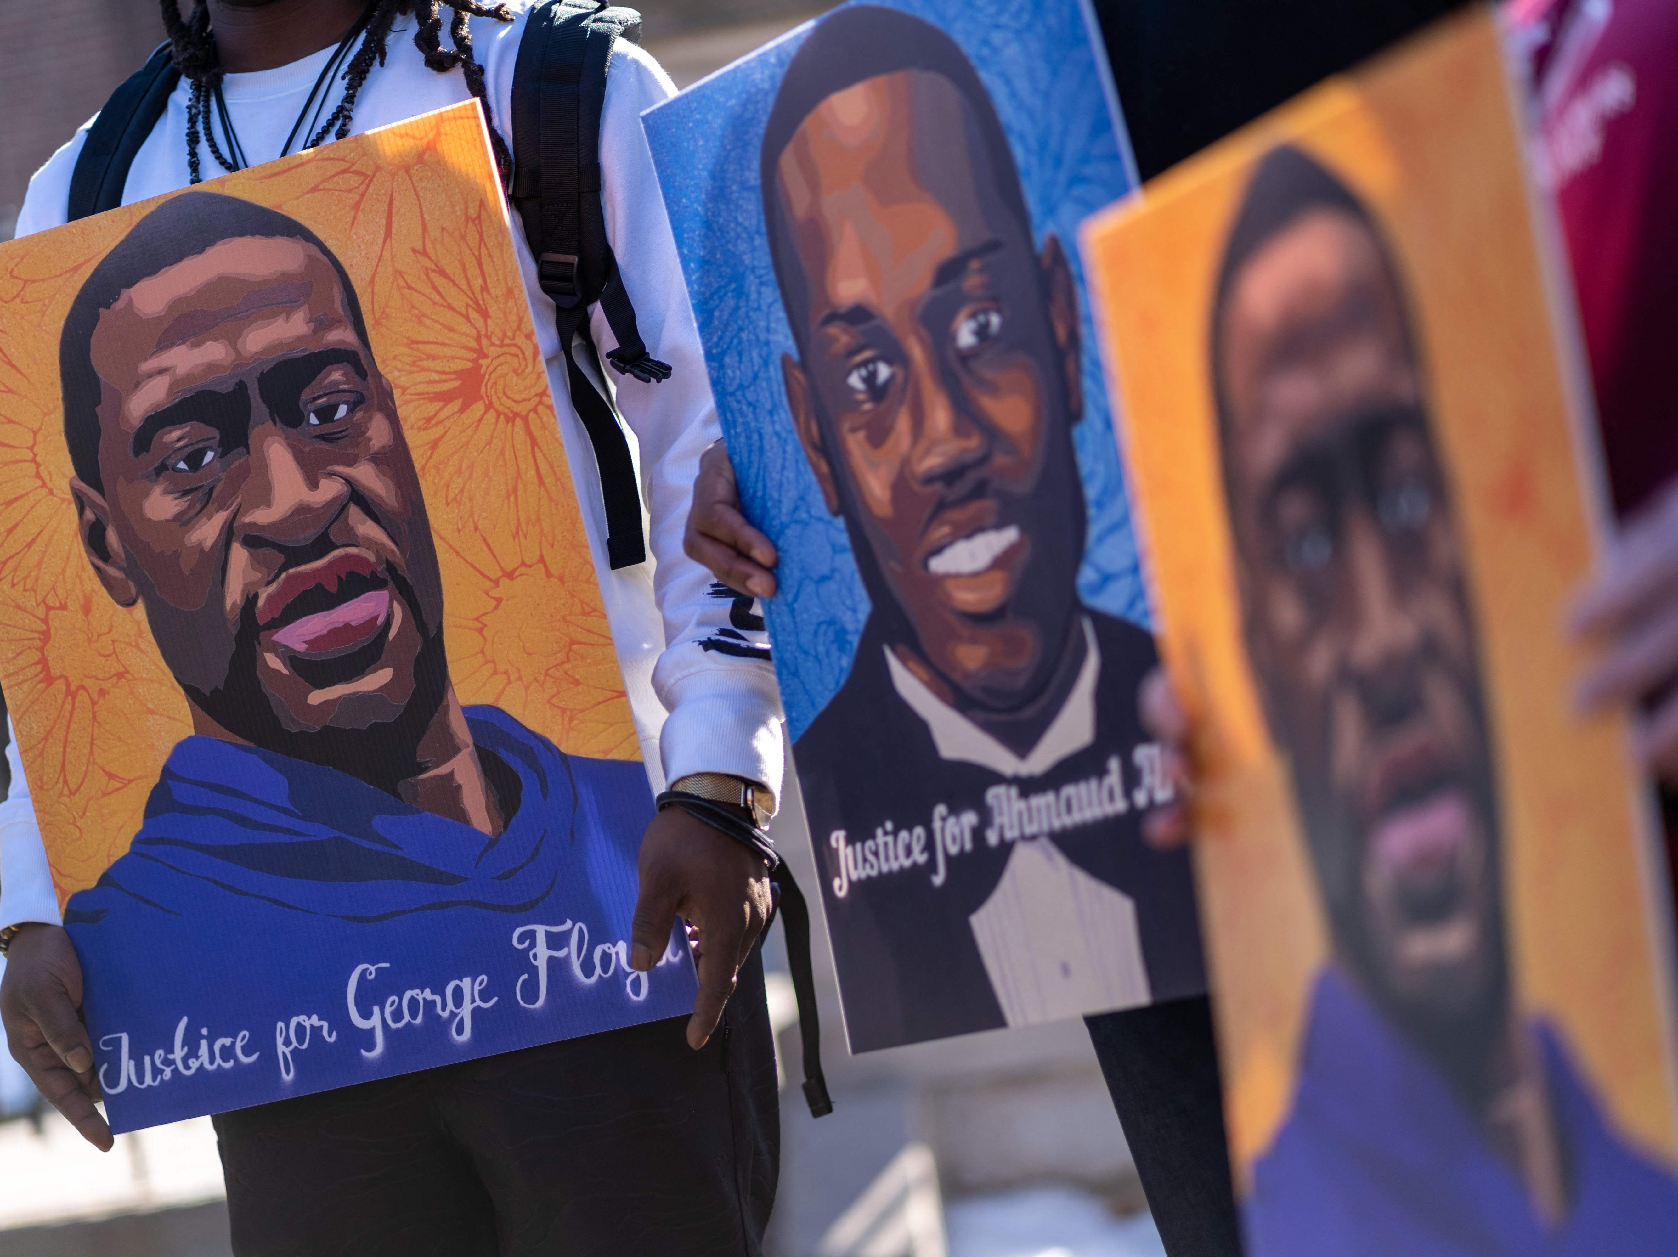
<instances>
[{"instance_id":1,"label":"hand with wrist bands gripping George Floyd poster's lower right corner","mask_svg":"<svg viewBox=\"0 0 1678 1257\"><path fill-rule=\"evenodd\" d=\"M641 896L634 905L629 967L649 970L670 947L680 913L698 935L700 994L688 1047L711 1037L770 911L769 863L680 807L666 807L641 839Z\"/></svg>"}]
</instances>

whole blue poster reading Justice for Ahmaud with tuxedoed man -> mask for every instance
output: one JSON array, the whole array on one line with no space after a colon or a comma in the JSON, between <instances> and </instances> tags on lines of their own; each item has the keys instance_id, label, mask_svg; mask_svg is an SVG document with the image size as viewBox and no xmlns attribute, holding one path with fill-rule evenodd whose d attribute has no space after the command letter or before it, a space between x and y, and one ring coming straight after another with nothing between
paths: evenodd
<instances>
[{"instance_id":1,"label":"whole blue poster reading Justice for Ahmaud with tuxedoed man","mask_svg":"<svg viewBox=\"0 0 1678 1257\"><path fill-rule=\"evenodd\" d=\"M1205 990L1077 223L1079 0L847 3L643 117L747 515L852 1051Z\"/></svg>"}]
</instances>

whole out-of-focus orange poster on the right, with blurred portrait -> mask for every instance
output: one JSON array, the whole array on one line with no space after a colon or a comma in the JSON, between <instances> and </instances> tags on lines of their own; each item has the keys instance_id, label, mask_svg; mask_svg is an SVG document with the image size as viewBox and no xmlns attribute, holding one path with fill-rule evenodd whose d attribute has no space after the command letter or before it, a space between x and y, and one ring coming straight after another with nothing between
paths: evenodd
<instances>
[{"instance_id":1,"label":"whole out-of-focus orange poster on the right, with blurred portrait","mask_svg":"<svg viewBox=\"0 0 1678 1257\"><path fill-rule=\"evenodd\" d=\"M1604 515L1519 109L1473 7L1084 237L1255 1257L1678 1234L1666 871L1571 702Z\"/></svg>"}]
</instances>

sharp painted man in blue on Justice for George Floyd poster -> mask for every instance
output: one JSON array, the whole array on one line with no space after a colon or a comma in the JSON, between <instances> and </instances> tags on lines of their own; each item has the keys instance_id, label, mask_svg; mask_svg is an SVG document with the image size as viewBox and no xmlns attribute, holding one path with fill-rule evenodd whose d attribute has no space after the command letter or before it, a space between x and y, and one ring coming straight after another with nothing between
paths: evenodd
<instances>
[{"instance_id":1,"label":"sharp painted man in blue on Justice for George Floyd poster","mask_svg":"<svg viewBox=\"0 0 1678 1257\"><path fill-rule=\"evenodd\" d=\"M369 324L310 227L221 186L144 210L57 337L82 564L190 720L122 854L60 881L117 1129L668 1015L690 988L628 965L641 762L562 750L451 675L374 349L401 324Z\"/></svg>"}]
</instances>

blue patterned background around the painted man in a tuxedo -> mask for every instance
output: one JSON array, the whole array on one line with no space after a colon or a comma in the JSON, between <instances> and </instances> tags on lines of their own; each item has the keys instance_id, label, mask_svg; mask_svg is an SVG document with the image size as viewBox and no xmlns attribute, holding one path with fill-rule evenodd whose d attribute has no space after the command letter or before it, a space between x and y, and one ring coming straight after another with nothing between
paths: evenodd
<instances>
[{"instance_id":1,"label":"blue patterned background around the painted man in a tuxedo","mask_svg":"<svg viewBox=\"0 0 1678 1257\"><path fill-rule=\"evenodd\" d=\"M941 27L967 52L1014 146L1037 243L1059 237L1082 289L1077 225L1134 186L1134 164L1081 0L873 3ZM807 30L799 27L643 116L742 502L780 549L780 592L767 614L794 738L844 683L869 609L844 524L822 505L787 409L780 356L792 351L792 332L760 201L763 123ZM1087 299L1082 324L1084 418L1074 441L1089 542L1079 592L1089 606L1146 626Z\"/></svg>"}]
</instances>

